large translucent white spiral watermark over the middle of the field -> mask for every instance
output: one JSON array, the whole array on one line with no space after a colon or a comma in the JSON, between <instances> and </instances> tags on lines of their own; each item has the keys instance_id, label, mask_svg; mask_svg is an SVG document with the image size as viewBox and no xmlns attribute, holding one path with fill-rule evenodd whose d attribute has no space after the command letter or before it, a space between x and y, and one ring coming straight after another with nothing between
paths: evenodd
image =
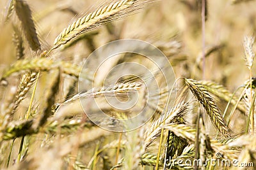
<instances>
[{"instance_id":1,"label":"large translucent white spiral watermark over the middle of the field","mask_svg":"<svg viewBox=\"0 0 256 170\"><path fill-rule=\"evenodd\" d=\"M88 80L89 74L92 80ZM172 104L161 99L169 96L174 82L172 66L156 46L121 39L101 46L84 62L79 92L91 92L92 96L80 101L87 117L100 127L131 131L145 124L159 108ZM173 102L175 94L172 97ZM116 112L117 116L111 115Z\"/></svg>"}]
</instances>

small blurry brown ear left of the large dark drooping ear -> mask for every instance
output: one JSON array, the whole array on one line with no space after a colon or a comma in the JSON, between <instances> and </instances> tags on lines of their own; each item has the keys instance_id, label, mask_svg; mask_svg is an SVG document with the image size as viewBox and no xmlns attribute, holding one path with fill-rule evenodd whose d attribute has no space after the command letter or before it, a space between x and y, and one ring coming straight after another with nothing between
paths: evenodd
<instances>
[{"instance_id":1,"label":"small blurry brown ear left of the large dark drooping ear","mask_svg":"<svg viewBox=\"0 0 256 170\"><path fill-rule=\"evenodd\" d=\"M22 34L15 25L13 25L13 31L14 31L13 43L15 45L16 58L17 60L20 60L24 58L24 46L23 46Z\"/></svg>"}]
</instances>

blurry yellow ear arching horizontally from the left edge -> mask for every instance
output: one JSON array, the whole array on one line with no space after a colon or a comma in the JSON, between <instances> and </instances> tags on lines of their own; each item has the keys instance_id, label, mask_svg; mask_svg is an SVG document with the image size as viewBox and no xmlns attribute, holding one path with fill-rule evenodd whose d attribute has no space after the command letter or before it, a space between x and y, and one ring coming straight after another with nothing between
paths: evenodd
<instances>
[{"instance_id":1,"label":"blurry yellow ear arching horizontally from the left edge","mask_svg":"<svg viewBox=\"0 0 256 170\"><path fill-rule=\"evenodd\" d=\"M22 73L24 71L50 71L51 69L61 68L65 74L78 78L81 67L76 64L65 61L51 60L47 58L17 60L7 71L4 72L2 80L8 78L13 73Z\"/></svg>"}]
</instances>

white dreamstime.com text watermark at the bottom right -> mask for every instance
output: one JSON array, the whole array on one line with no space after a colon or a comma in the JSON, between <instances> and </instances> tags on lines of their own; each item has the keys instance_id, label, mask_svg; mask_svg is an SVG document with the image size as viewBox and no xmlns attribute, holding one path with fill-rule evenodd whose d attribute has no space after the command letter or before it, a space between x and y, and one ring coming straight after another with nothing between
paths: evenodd
<instances>
[{"instance_id":1,"label":"white dreamstime.com text watermark at the bottom right","mask_svg":"<svg viewBox=\"0 0 256 170\"><path fill-rule=\"evenodd\" d=\"M237 159L225 159L222 153L218 152L215 154L215 158L210 159L166 159L166 166L221 166L221 167L253 167L253 162L239 162Z\"/></svg>"}]
</instances>

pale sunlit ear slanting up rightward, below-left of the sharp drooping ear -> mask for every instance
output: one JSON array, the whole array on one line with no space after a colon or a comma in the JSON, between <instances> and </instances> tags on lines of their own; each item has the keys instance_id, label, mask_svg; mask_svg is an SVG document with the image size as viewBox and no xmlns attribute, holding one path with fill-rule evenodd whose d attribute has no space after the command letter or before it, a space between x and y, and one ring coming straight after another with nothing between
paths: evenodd
<instances>
[{"instance_id":1,"label":"pale sunlit ear slanting up rightward, below-left of the sharp drooping ear","mask_svg":"<svg viewBox=\"0 0 256 170\"><path fill-rule=\"evenodd\" d=\"M168 111L166 117L165 114L162 114L160 118L155 120L145 132L145 149L147 150L147 148L159 137L162 129L161 126L172 122L180 122L180 119L183 119L186 111L188 111L188 103L182 102L173 107L172 110Z\"/></svg>"}]
</instances>

